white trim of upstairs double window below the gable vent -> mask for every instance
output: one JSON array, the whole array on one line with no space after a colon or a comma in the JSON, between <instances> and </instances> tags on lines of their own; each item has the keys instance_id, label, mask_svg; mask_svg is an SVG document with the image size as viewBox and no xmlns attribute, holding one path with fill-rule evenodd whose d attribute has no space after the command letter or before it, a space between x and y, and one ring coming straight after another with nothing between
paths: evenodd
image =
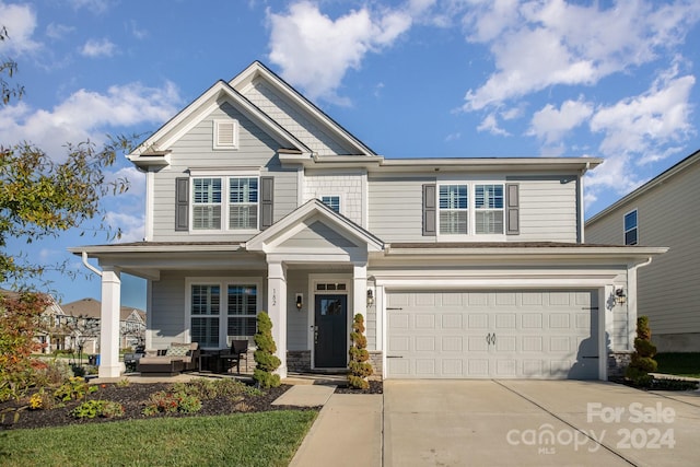
<instances>
[{"instance_id":1,"label":"white trim of upstairs double window below the gable vent","mask_svg":"<svg viewBox=\"0 0 700 467\"><path fill-rule=\"evenodd\" d=\"M195 229L195 178L221 178L221 226L219 229ZM229 209L230 178L257 178L258 179L258 225L256 229L230 229ZM260 232L260 172L259 171L235 171L211 172L190 170L189 173L189 233L192 235L211 235L213 233L233 233L250 235Z\"/></svg>"}]
</instances>

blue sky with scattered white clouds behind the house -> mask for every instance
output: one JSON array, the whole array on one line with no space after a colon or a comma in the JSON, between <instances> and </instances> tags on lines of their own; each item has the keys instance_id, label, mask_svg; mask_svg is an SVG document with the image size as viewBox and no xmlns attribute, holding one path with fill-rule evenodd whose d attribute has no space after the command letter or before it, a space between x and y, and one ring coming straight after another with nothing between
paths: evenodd
<instances>
[{"instance_id":1,"label":"blue sky with scattered white clouds behind the house","mask_svg":"<svg viewBox=\"0 0 700 467\"><path fill-rule=\"evenodd\" d=\"M0 0L0 59L25 87L0 144L60 161L67 142L144 139L259 60L385 157L602 157L590 218L700 149L699 21L697 0ZM125 157L107 175L131 185L108 224L142 240L143 175ZM47 276L59 302L100 300L66 249L108 242L84 231L9 252L80 271ZM145 308L142 280L121 292Z\"/></svg>"}]
</instances>

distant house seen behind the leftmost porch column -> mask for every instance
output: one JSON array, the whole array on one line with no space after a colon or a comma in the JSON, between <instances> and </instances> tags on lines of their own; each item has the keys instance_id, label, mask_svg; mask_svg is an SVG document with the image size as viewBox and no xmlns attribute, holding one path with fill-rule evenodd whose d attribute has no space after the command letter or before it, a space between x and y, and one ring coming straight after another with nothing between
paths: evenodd
<instances>
[{"instance_id":1,"label":"distant house seen behind the leftmost porch column","mask_svg":"<svg viewBox=\"0 0 700 467\"><path fill-rule=\"evenodd\" d=\"M102 304L95 299L82 299L62 305L63 312L71 317L68 327L81 336L83 352L100 353L100 329ZM130 306L119 307L119 348L133 349L143 345L145 338L145 313Z\"/></svg>"}]
</instances>

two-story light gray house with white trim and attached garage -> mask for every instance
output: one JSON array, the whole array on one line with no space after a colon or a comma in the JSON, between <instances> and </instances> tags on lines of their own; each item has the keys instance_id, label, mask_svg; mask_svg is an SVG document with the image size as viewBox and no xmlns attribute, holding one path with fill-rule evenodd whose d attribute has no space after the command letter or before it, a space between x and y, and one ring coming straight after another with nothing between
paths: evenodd
<instances>
[{"instance_id":1,"label":"two-story light gray house with white trim and attached garage","mask_svg":"<svg viewBox=\"0 0 700 467\"><path fill-rule=\"evenodd\" d=\"M252 340L266 311L282 376L341 370L361 313L386 378L606 378L637 267L665 252L584 244L599 159L384 157L259 62L129 159L144 241L70 248L102 269L102 377L127 272L148 280L149 348Z\"/></svg>"}]
</instances>

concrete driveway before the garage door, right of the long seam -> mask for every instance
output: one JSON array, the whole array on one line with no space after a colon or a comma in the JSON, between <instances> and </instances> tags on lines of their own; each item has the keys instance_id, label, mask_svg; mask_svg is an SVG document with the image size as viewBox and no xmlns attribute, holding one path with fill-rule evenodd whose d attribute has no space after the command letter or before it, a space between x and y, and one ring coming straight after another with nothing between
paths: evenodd
<instances>
[{"instance_id":1,"label":"concrete driveway before the garage door, right of the long seam","mask_svg":"<svg viewBox=\"0 0 700 467\"><path fill-rule=\"evenodd\" d=\"M700 394L603 382L385 381L384 466L690 466Z\"/></svg>"}]
</instances>

